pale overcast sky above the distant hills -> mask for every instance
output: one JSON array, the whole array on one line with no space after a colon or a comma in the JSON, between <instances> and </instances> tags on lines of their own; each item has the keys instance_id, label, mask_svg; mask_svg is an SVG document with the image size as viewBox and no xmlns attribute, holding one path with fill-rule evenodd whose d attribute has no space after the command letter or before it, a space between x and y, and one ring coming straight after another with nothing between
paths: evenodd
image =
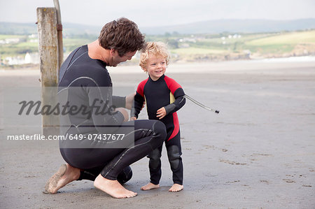
<instances>
[{"instance_id":1,"label":"pale overcast sky above the distant hills","mask_svg":"<svg viewBox=\"0 0 315 209\"><path fill-rule=\"evenodd\" d=\"M53 0L0 0L0 22L37 22L37 7ZM139 27L204 20L315 18L315 0L59 0L62 22L102 27L127 17Z\"/></svg>"}]
</instances>

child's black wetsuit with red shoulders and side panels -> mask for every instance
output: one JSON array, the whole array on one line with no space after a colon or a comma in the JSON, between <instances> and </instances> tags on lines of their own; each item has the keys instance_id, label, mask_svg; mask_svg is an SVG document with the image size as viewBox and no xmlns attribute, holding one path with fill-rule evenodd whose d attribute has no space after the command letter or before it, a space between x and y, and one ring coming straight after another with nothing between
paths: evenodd
<instances>
[{"instance_id":1,"label":"child's black wetsuit with red shoulders and side panels","mask_svg":"<svg viewBox=\"0 0 315 209\"><path fill-rule=\"evenodd\" d=\"M148 118L150 120L159 120L156 116L158 109L164 107L167 115L160 121L167 128L167 138L165 146L169 164L173 172L173 182L183 185L183 163L181 159L181 136L179 130L179 119L176 111L186 102L185 93L181 85L174 79L162 75L158 80L152 80L150 76L140 82L137 88L137 94L134 97L134 117L138 117L142 104L146 100ZM158 185L162 175L161 171L161 152L162 146L153 150L148 155L150 158L149 168L151 182Z\"/></svg>"}]
</instances>

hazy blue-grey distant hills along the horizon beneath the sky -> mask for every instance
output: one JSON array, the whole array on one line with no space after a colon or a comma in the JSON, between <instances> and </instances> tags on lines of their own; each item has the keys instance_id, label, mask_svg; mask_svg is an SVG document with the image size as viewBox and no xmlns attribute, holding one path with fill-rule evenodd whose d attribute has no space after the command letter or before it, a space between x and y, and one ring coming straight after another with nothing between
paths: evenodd
<instances>
[{"instance_id":1,"label":"hazy blue-grey distant hills along the horizon beneath the sky","mask_svg":"<svg viewBox=\"0 0 315 209\"><path fill-rule=\"evenodd\" d=\"M100 26L63 23L63 33L66 36L94 35L102 29ZM267 33L277 31L296 31L315 29L315 19L300 20L209 20L189 24L168 25L163 27L142 27L139 29L147 35L161 35L177 32L179 34L220 34L230 33ZM36 34L35 23L0 22L0 34Z\"/></svg>"}]
</instances>

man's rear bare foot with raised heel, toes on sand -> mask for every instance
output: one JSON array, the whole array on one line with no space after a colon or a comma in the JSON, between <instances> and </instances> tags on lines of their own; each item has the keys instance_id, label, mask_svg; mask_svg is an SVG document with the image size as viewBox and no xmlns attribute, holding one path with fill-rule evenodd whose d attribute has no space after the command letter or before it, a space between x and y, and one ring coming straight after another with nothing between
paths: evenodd
<instances>
[{"instance_id":1,"label":"man's rear bare foot with raised heel, toes on sand","mask_svg":"<svg viewBox=\"0 0 315 209\"><path fill-rule=\"evenodd\" d=\"M69 164L62 164L59 170L54 175L52 175L48 182L46 182L44 193L56 194L58 189L64 187L73 180L77 180L79 177L79 168L74 168Z\"/></svg>"}]
</instances>

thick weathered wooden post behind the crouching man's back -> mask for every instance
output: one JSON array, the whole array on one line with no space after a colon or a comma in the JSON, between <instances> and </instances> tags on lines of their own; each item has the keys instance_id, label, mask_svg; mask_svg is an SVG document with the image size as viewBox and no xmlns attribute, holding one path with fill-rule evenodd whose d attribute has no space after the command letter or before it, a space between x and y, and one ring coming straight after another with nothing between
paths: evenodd
<instances>
[{"instance_id":1,"label":"thick weathered wooden post behind the crouching man's back","mask_svg":"<svg viewBox=\"0 0 315 209\"><path fill-rule=\"evenodd\" d=\"M58 38L56 8L37 8L39 56L41 59L41 105L57 103ZM43 115L43 135L59 134L59 117Z\"/></svg>"}]
</instances>

